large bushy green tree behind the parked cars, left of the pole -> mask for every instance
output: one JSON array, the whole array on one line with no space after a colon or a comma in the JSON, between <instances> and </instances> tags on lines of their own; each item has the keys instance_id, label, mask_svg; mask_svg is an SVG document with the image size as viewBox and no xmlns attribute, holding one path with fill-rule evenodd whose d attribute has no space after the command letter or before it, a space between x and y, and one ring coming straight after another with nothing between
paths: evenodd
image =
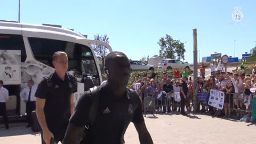
<instances>
[{"instance_id":1,"label":"large bushy green tree behind the parked cars, left of the pole","mask_svg":"<svg viewBox=\"0 0 256 144\"><path fill-rule=\"evenodd\" d=\"M170 35L161 37L157 43L160 46L159 57L171 59L185 59L186 52L184 43L173 39Z\"/></svg>"}]
</instances>

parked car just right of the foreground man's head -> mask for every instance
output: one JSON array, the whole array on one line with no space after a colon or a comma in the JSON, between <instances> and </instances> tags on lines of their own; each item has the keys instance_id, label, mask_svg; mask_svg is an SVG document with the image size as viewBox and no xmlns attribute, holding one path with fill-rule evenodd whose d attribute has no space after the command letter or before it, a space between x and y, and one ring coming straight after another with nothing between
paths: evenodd
<instances>
[{"instance_id":1,"label":"parked car just right of the foreground man's head","mask_svg":"<svg viewBox=\"0 0 256 144\"><path fill-rule=\"evenodd\" d=\"M131 63L131 69L132 70L155 70L157 67L153 65L148 65L145 62L132 60Z\"/></svg>"}]
</instances>

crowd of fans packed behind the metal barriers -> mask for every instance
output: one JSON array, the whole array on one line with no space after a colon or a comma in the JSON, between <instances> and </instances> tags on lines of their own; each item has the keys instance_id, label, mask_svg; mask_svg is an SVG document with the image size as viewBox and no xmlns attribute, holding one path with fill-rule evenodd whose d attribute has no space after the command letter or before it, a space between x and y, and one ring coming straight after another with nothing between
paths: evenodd
<instances>
[{"instance_id":1,"label":"crowd of fans packed behind the metal barriers","mask_svg":"<svg viewBox=\"0 0 256 144\"><path fill-rule=\"evenodd\" d=\"M211 65L213 67L214 63ZM139 93L142 103L145 97L153 95L156 113L164 114L171 111L180 111L180 102L174 100L174 93L181 92L181 83L183 82L187 83L187 94L185 96L187 111L193 109L193 95L197 95L198 92L206 92L207 100L209 100L211 89L222 91L225 92L224 108L222 110L223 117L236 116L237 118L245 118L247 119L246 121L255 121L256 96L253 95L250 89L256 88L256 67L252 70L251 74L246 74L244 67L241 67L242 72L239 74L236 73L237 69L234 74L226 74L222 71L222 62L219 62L219 65L216 71L215 67L211 69L212 73L209 79L205 79L204 65L200 67L201 76L198 77L195 94L193 91L194 82L188 76L187 70L179 70L178 68L174 69L175 77L173 79L170 78L166 71L164 71L161 79L155 77L154 73L149 77L146 75L143 78L137 76L131 88ZM185 91L184 88L183 91ZM199 105L201 113L214 115L218 110L203 103L199 103Z\"/></svg>"}]
</instances>

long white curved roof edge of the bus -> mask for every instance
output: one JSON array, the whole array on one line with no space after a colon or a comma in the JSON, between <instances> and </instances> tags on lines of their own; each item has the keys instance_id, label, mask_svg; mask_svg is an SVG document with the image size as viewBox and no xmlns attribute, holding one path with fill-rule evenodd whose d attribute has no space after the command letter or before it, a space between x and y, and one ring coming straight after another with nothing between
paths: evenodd
<instances>
[{"instance_id":1,"label":"long white curved roof edge of the bus","mask_svg":"<svg viewBox=\"0 0 256 144\"><path fill-rule=\"evenodd\" d=\"M0 21L0 29L10 29L10 30L25 30L26 29L27 31L37 31L37 32L43 32L43 33L49 33L49 34L58 33L59 35L69 35L69 36L75 37L75 38L79 37L79 38L86 39L85 36L83 36L81 34L77 34L70 29L54 27L54 25L42 26L42 25L31 25L31 24L24 24L24 23Z\"/></svg>"}]
</instances>

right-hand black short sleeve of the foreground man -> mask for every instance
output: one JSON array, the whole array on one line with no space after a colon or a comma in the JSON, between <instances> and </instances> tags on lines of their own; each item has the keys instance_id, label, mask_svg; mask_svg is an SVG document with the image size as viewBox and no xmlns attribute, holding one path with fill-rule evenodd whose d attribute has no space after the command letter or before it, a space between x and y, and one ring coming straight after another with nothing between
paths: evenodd
<instances>
[{"instance_id":1,"label":"right-hand black short sleeve of the foreground man","mask_svg":"<svg viewBox=\"0 0 256 144\"><path fill-rule=\"evenodd\" d=\"M139 99L139 95L136 94L136 97L134 100L137 103L137 108L134 110L132 122L135 124L141 124L142 122L144 122L144 117L142 115L142 104L141 104L141 100Z\"/></svg>"}]
</instances>

